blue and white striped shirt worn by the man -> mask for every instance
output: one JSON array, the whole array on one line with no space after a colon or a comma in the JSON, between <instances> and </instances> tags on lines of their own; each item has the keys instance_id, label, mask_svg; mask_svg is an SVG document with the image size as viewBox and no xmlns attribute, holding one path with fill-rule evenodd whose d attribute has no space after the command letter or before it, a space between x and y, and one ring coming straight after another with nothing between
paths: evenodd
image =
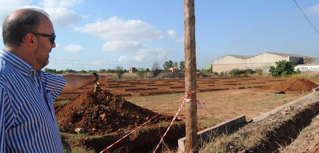
<instances>
[{"instance_id":1,"label":"blue and white striped shirt worn by the man","mask_svg":"<svg viewBox=\"0 0 319 153\"><path fill-rule=\"evenodd\" d=\"M53 102L64 86L0 49L0 153L63 152Z\"/></svg>"}]
</instances>

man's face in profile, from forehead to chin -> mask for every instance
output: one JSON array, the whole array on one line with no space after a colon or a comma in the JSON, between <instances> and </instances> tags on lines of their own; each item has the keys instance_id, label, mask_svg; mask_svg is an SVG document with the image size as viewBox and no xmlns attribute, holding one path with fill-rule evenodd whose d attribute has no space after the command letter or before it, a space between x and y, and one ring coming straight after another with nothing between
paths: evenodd
<instances>
[{"instance_id":1,"label":"man's face in profile, from forehead to chin","mask_svg":"<svg viewBox=\"0 0 319 153\"><path fill-rule=\"evenodd\" d=\"M36 33L54 34L52 22L48 18L43 17ZM35 60L42 69L49 64L49 53L51 49L55 47L55 42L52 44L50 37L36 36L38 39L38 47L35 50Z\"/></svg>"}]
</instances>

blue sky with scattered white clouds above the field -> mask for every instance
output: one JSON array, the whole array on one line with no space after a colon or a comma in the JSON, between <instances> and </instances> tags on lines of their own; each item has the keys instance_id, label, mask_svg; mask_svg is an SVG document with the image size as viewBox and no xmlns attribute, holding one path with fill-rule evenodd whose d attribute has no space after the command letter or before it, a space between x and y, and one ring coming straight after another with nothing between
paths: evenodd
<instances>
[{"instance_id":1,"label":"blue sky with scattered white clouds above the field","mask_svg":"<svg viewBox=\"0 0 319 153\"><path fill-rule=\"evenodd\" d=\"M319 0L296 0L319 28ZM183 0L0 0L0 25L18 8L45 10L56 48L46 68L152 67L184 60ZM0 29L2 42L2 29ZM197 69L221 56L319 57L319 34L293 0L195 0ZM3 42L0 43L3 48Z\"/></svg>"}]
</instances>

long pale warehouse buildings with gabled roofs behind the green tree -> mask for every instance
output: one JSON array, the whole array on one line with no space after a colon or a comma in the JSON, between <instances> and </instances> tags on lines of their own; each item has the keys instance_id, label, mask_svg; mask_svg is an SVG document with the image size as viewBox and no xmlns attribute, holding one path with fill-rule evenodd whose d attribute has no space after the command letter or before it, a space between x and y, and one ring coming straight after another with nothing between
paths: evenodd
<instances>
[{"instance_id":1,"label":"long pale warehouse buildings with gabled roofs behind the green tree","mask_svg":"<svg viewBox=\"0 0 319 153\"><path fill-rule=\"evenodd\" d=\"M319 66L318 58L311 58L298 54L264 52L256 56L244 55L225 55L212 61L213 72L226 72L234 68L238 69L263 69L268 72L270 66L275 66L275 63L280 60L291 61L293 64L316 65Z\"/></svg>"}]
</instances>

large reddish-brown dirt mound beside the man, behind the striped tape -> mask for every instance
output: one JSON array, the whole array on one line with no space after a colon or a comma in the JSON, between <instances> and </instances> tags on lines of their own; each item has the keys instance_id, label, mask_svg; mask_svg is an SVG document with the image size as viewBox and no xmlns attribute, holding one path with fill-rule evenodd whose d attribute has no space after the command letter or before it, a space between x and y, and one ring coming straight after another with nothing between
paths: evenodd
<instances>
[{"instance_id":1,"label":"large reddish-brown dirt mound beside the man, behind the striped tape","mask_svg":"<svg viewBox=\"0 0 319 153\"><path fill-rule=\"evenodd\" d=\"M82 92L56 110L60 131L75 133L83 128L88 135L108 134L133 129L158 113L132 104L100 88ZM159 115L149 124L170 122L173 117Z\"/></svg>"}]
</instances>

